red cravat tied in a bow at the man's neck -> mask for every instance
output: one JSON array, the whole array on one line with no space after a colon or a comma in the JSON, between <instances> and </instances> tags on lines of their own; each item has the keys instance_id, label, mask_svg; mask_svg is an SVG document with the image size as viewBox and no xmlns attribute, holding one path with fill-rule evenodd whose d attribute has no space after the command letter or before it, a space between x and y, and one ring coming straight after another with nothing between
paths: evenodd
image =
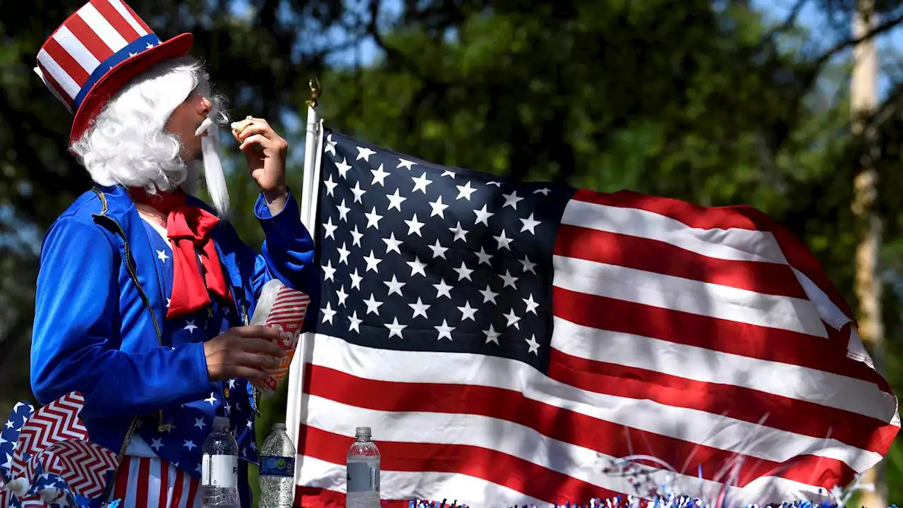
<instances>
[{"instance_id":1,"label":"red cravat tied in a bow at the man's neck","mask_svg":"<svg viewBox=\"0 0 903 508\"><path fill-rule=\"evenodd\" d=\"M189 315L209 306L209 293L228 301L226 278L216 246L209 237L219 218L196 206L187 206L186 195L181 190L150 195L143 189L129 189L129 194L135 202L167 214L166 236L172 246L172 297L166 318Z\"/></svg>"}]
</instances>

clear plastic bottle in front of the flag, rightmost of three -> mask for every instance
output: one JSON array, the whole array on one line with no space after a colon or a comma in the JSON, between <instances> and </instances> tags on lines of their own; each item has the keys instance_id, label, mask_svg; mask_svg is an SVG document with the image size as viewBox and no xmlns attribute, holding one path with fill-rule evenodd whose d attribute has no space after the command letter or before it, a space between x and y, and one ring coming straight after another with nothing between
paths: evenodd
<instances>
[{"instance_id":1,"label":"clear plastic bottle in front of the flag, rightmost of three","mask_svg":"<svg viewBox=\"0 0 903 508\"><path fill-rule=\"evenodd\" d=\"M346 466L346 508L379 508L379 449L369 427L355 429Z\"/></svg>"}]
</instances>

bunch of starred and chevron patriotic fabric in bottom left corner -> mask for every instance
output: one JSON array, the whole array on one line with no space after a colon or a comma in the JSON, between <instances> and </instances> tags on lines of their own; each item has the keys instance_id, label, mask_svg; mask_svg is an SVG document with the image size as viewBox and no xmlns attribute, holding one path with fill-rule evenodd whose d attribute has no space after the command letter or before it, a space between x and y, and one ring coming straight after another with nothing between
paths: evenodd
<instances>
[{"instance_id":1,"label":"bunch of starred and chevron patriotic fabric in bottom left corner","mask_svg":"<svg viewBox=\"0 0 903 508\"><path fill-rule=\"evenodd\" d=\"M0 508L89 503L104 493L116 454L88 441L84 398L71 392L34 408L18 402L0 430Z\"/></svg>"}]
</instances>

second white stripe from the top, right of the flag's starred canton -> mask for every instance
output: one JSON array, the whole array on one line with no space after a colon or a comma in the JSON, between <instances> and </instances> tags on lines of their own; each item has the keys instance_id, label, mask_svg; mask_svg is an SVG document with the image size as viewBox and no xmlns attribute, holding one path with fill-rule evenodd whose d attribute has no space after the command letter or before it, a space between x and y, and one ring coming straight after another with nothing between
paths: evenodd
<instances>
[{"instance_id":1,"label":"second white stripe from the top, right of the flag's starred canton","mask_svg":"<svg viewBox=\"0 0 903 508\"><path fill-rule=\"evenodd\" d=\"M554 286L578 293L606 296L827 338L824 323L811 303L790 296L773 296L619 267L586 259L554 256Z\"/></svg>"}]
</instances>

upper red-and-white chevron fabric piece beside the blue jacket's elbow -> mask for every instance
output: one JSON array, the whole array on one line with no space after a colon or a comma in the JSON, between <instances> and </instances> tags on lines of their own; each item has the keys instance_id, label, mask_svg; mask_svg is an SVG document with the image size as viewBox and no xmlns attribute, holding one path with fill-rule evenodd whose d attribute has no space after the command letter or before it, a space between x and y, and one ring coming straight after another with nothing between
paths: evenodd
<instances>
[{"instance_id":1,"label":"upper red-and-white chevron fabric piece beside the blue jacket's elbow","mask_svg":"<svg viewBox=\"0 0 903 508\"><path fill-rule=\"evenodd\" d=\"M81 424L79 413L85 398L73 391L34 411L19 432L13 456L13 477L25 472L24 456L37 456L43 450L62 441L88 440L88 429Z\"/></svg>"}]
</instances>

